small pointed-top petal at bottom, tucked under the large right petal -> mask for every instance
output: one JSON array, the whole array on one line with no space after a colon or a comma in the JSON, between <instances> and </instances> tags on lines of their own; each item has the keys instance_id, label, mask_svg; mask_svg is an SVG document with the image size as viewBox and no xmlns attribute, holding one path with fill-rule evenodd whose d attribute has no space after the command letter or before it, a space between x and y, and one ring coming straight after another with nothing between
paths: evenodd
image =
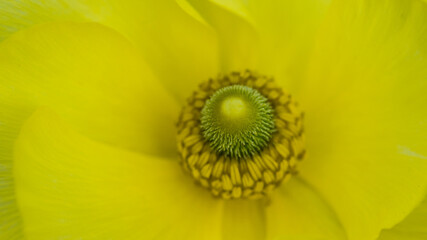
<instances>
[{"instance_id":1,"label":"small pointed-top petal at bottom, tucked under the large right petal","mask_svg":"<svg viewBox=\"0 0 427 240\"><path fill-rule=\"evenodd\" d=\"M266 223L267 239L346 239L334 212L298 177L272 194Z\"/></svg>"}]
</instances>

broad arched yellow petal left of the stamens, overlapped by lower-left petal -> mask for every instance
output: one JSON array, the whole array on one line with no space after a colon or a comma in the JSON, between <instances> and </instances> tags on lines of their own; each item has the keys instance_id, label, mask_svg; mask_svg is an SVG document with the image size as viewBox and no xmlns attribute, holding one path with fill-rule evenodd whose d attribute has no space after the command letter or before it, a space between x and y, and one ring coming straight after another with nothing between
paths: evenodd
<instances>
[{"instance_id":1,"label":"broad arched yellow petal left of the stamens, overlapped by lower-left petal","mask_svg":"<svg viewBox=\"0 0 427 240\"><path fill-rule=\"evenodd\" d=\"M176 103L126 39L91 23L23 30L0 43L2 212L15 209L14 141L22 123L41 105L91 138L150 154L175 153ZM4 229L15 225L3 221L8 223L0 224Z\"/></svg>"}]
</instances>

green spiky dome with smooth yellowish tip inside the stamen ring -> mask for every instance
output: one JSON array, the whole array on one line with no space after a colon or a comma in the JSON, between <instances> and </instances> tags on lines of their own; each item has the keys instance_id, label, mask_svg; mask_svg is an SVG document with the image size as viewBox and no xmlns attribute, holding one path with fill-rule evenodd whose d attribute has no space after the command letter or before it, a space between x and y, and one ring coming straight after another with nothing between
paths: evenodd
<instances>
[{"instance_id":1,"label":"green spiky dome with smooth yellowish tip inside the stamen ring","mask_svg":"<svg viewBox=\"0 0 427 240\"><path fill-rule=\"evenodd\" d=\"M242 85L217 90L201 112L203 136L219 154L244 158L259 153L274 131L273 109L258 91Z\"/></svg>"}]
</instances>

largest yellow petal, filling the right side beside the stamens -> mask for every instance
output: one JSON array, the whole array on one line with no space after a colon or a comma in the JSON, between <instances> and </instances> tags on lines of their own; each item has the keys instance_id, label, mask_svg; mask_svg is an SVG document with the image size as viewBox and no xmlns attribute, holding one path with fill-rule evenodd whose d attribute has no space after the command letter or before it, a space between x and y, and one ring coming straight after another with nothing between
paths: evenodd
<instances>
[{"instance_id":1,"label":"largest yellow petal, filling the right side beside the stamens","mask_svg":"<svg viewBox=\"0 0 427 240\"><path fill-rule=\"evenodd\" d=\"M302 92L301 174L332 205L349 239L375 239L427 189L427 5L337 1Z\"/></svg>"}]
</instances>

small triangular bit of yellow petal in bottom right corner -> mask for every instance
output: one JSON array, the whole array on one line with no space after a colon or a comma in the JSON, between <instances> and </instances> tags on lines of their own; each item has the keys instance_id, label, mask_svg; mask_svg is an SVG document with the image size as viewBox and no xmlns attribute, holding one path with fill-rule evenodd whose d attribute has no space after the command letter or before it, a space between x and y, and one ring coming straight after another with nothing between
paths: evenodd
<instances>
[{"instance_id":1,"label":"small triangular bit of yellow petal in bottom right corner","mask_svg":"<svg viewBox=\"0 0 427 240\"><path fill-rule=\"evenodd\" d=\"M402 222L381 232L378 240L427 239L427 198Z\"/></svg>"}]
</instances>

